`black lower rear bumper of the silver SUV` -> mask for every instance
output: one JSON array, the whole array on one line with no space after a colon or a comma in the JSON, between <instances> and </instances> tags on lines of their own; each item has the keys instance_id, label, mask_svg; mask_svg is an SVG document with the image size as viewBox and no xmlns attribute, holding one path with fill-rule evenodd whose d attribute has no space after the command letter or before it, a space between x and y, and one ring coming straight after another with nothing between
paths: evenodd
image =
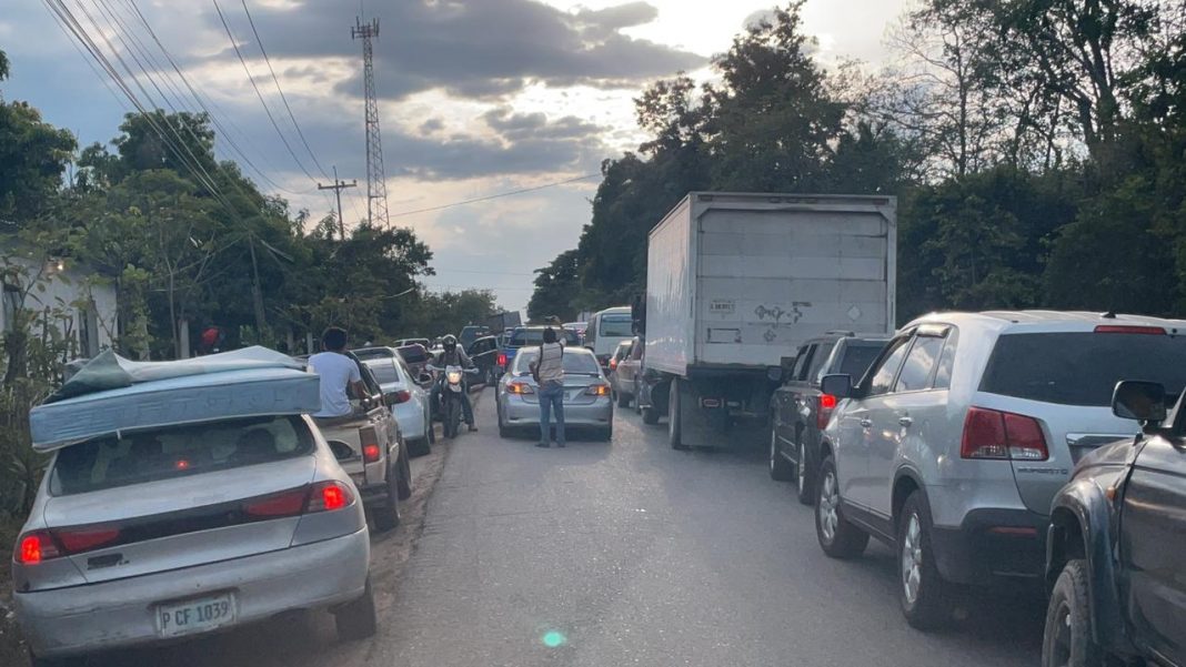
<instances>
[{"instance_id":1,"label":"black lower rear bumper of the silver SUV","mask_svg":"<svg viewBox=\"0 0 1186 667\"><path fill-rule=\"evenodd\" d=\"M1048 525L1050 517L1025 509L974 509L958 528L932 528L936 565L959 584L1005 578L1041 585Z\"/></svg>"}]
</instances>

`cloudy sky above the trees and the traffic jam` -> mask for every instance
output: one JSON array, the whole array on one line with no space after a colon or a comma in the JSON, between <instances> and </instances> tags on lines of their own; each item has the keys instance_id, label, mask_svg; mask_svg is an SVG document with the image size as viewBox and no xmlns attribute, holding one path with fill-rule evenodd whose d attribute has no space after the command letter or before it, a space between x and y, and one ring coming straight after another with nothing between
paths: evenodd
<instances>
[{"instance_id":1,"label":"cloudy sky above the trees and the traffic jam","mask_svg":"<svg viewBox=\"0 0 1186 667\"><path fill-rule=\"evenodd\" d=\"M806 32L825 65L886 58L887 27L907 0L808 0ZM197 110L159 40L219 121L231 159L294 209L333 207L336 167L349 224L366 217L362 45L350 28L380 21L374 41L388 210L434 252L429 289L492 289L523 309L533 271L574 248L591 217L600 163L643 136L632 100L680 71L710 77L773 0L62 0L96 43L139 73L151 104ZM27 101L82 146L108 142L132 107L55 21L43 0L4 0L7 101ZM218 9L244 64L232 47ZM248 23L254 19L259 41ZM139 9L141 18L134 12ZM152 28L149 33L148 27ZM97 27L96 27L97 26ZM268 62L279 81L268 73ZM152 56L149 59L148 56ZM259 86L259 95L251 79ZM129 79L132 81L132 79ZM153 84L160 86L161 92ZM173 89L178 92L173 92ZM261 102L260 96L263 97ZM289 120L285 102L300 129ZM276 127L268 118L268 113ZM278 129L279 128L279 129ZM301 140L308 143L308 149ZM249 161L250 163L246 163ZM547 186L512 197L468 199ZM428 210L428 211L426 211Z\"/></svg>"}]
</instances>

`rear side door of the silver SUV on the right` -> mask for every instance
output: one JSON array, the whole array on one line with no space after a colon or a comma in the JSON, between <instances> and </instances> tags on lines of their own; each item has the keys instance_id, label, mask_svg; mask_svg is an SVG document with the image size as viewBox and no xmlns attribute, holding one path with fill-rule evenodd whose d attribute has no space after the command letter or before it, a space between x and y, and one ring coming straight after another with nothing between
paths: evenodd
<instances>
[{"instance_id":1,"label":"rear side door of the silver SUV on the right","mask_svg":"<svg viewBox=\"0 0 1186 667\"><path fill-rule=\"evenodd\" d=\"M869 448L869 508L884 518L892 514L893 481L901 464L925 457L930 440L946 434L946 384L935 377L943 354L948 327L924 325L898 371L893 389L882 399L886 408L880 437Z\"/></svg>"}]
</instances>

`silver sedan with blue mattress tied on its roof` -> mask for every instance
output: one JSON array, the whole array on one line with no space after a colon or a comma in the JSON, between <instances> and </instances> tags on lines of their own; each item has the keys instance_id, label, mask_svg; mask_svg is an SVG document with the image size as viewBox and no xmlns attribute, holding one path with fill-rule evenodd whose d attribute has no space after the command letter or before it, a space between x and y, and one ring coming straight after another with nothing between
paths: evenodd
<instances>
[{"instance_id":1,"label":"silver sedan with blue mattress tied on its roof","mask_svg":"<svg viewBox=\"0 0 1186 667\"><path fill-rule=\"evenodd\" d=\"M254 347L107 352L34 408L33 447L52 460L12 566L33 665L307 609L333 611L342 637L372 635L366 520L307 416L319 406L317 376Z\"/></svg>"}]
</instances>

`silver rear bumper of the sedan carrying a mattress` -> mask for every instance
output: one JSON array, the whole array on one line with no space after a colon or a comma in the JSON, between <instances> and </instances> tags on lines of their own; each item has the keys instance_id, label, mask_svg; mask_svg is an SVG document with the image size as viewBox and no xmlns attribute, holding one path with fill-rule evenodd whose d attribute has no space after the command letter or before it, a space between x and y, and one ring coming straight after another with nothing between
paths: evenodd
<instances>
[{"instance_id":1,"label":"silver rear bumper of the sedan carrying a mattress","mask_svg":"<svg viewBox=\"0 0 1186 667\"><path fill-rule=\"evenodd\" d=\"M160 641L155 605L231 591L240 627L285 611L357 599L366 585L365 528L304 546L128 579L13 595L38 656L79 655ZM219 630L227 629L222 627Z\"/></svg>"}]
</instances>

